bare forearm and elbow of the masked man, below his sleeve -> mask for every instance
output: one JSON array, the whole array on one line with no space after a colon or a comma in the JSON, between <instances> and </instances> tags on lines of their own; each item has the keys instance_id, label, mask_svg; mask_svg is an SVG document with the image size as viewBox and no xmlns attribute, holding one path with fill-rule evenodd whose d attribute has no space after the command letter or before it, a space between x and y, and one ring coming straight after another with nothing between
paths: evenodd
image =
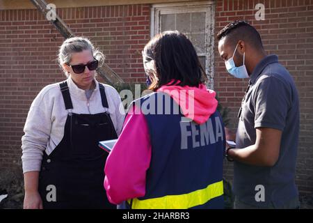
<instances>
[{"instance_id":1,"label":"bare forearm and elbow of the masked man, below his sleeve","mask_svg":"<svg viewBox=\"0 0 313 223\"><path fill-rule=\"evenodd\" d=\"M255 144L246 148L230 149L228 155L246 164L273 167L280 154L282 131L273 128L257 128Z\"/></svg>"}]
</instances>

